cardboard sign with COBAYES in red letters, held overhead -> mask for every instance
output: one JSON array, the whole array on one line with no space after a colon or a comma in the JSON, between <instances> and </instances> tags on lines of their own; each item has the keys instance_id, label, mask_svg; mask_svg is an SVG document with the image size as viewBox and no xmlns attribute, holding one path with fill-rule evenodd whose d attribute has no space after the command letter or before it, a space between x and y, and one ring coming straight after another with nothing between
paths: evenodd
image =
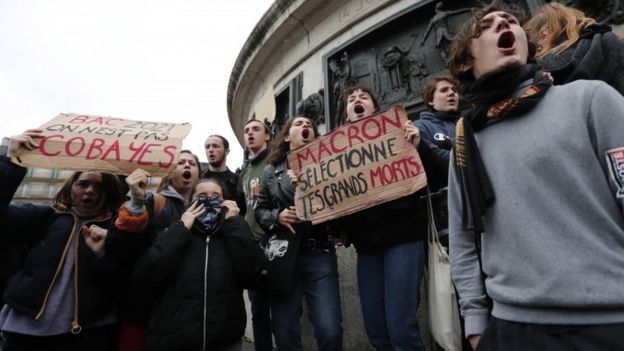
<instances>
[{"instance_id":1,"label":"cardboard sign with COBAYES in red letters, held overhead","mask_svg":"<svg viewBox=\"0 0 624 351\"><path fill-rule=\"evenodd\" d=\"M64 113L39 129L44 134L39 147L18 150L14 163L118 174L140 167L164 176L176 166L191 125Z\"/></svg>"}]
</instances>

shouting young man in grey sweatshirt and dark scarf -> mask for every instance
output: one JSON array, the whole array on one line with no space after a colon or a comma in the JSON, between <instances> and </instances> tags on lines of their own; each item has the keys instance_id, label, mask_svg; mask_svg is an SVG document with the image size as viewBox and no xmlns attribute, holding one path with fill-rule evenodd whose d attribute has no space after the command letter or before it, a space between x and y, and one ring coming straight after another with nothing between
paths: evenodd
<instances>
[{"instance_id":1,"label":"shouting young man in grey sweatshirt and dark scarf","mask_svg":"<svg viewBox=\"0 0 624 351\"><path fill-rule=\"evenodd\" d=\"M624 98L552 86L531 61L520 18L496 4L451 47L473 106L449 177L466 335L479 350L622 350Z\"/></svg>"}]
</instances>

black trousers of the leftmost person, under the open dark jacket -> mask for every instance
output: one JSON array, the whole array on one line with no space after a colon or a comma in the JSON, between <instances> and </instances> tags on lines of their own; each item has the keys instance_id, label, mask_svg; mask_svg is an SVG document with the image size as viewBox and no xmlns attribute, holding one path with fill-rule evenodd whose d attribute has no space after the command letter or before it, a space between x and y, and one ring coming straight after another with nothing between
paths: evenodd
<instances>
[{"instance_id":1,"label":"black trousers of the leftmost person, under the open dark jacket","mask_svg":"<svg viewBox=\"0 0 624 351\"><path fill-rule=\"evenodd\" d=\"M32 336L4 332L2 351L114 351L117 349L117 327L102 326L79 334Z\"/></svg>"}]
</instances>

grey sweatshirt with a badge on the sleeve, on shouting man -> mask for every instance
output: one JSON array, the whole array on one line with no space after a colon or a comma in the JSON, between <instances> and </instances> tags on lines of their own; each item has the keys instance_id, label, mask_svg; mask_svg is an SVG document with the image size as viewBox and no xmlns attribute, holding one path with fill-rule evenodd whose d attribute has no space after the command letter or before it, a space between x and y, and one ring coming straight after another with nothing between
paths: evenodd
<instances>
[{"instance_id":1,"label":"grey sweatshirt with a badge on the sleeve, on shouting man","mask_svg":"<svg viewBox=\"0 0 624 351\"><path fill-rule=\"evenodd\" d=\"M541 324L624 322L624 98L598 81L553 86L529 112L475 133L495 194L462 230L449 176L450 255L466 335L490 313Z\"/></svg>"}]
</instances>

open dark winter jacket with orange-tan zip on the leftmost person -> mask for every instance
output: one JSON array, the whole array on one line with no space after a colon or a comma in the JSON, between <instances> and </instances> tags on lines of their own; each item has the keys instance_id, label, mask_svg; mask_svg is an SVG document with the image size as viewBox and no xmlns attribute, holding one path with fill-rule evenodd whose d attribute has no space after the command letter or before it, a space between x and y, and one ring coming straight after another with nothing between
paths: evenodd
<instances>
[{"instance_id":1,"label":"open dark winter jacket with orange-tan zip on the leftmost person","mask_svg":"<svg viewBox=\"0 0 624 351\"><path fill-rule=\"evenodd\" d=\"M10 205L26 169L0 156L0 240L28 243L24 266L9 281L4 301L17 312L30 318L45 311L46 294L55 280L55 272L63 265L63 252L69 240L78 240L78 324L102 318L114 308L114 294L120 282L118 266L113 261L98 259L84 241L76 217L70 212L56 211L50 206ZM111 215L88 221L107 228ZM74 234L74 235L72 235Z\"/></svg>"}]
</instances>

